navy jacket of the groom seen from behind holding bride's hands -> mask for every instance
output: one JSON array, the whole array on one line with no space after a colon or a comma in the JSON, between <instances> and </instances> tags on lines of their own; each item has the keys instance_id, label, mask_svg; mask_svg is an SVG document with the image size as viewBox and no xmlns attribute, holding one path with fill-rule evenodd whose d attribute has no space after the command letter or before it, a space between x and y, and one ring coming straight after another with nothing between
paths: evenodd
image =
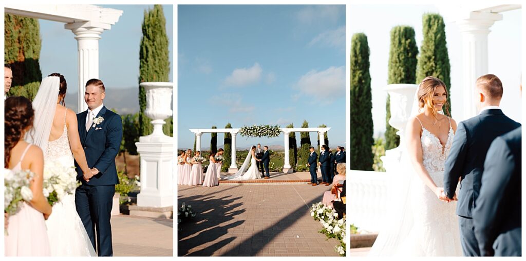
<instances>
[{"instance_id":1,"label":"navy jacket of the groom seen from behind holding bride's hands","mask_svg":"<svg viewBox=\"0 0 526 261\"><path fill-rule=\"evenodd\" d=\"M451 199L460 181L457 215L472 217L479 195L484 160L491 142L520 126L499 109L482 111L478 116L461 121L444 164L444 193Z\"/></svg>"}]
</instances>

